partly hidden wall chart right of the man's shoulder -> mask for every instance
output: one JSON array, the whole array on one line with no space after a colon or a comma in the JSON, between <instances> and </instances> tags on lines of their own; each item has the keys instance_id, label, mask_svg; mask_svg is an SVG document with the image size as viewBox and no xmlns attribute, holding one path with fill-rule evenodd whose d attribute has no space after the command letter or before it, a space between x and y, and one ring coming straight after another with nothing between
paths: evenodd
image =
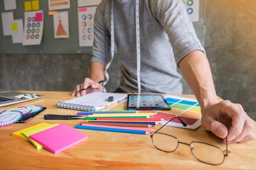
<instances>
[{"instance_id":1,"label":"partly hidden wall chart right of the man's shoulder","mask_svg":"<svg viewBox=\"0 0 256 170\"><path fill-rule=\"evenodd\" d=\"M199 0L183 0L192 22L199 21Z\"/></svg>"}]
</instances>

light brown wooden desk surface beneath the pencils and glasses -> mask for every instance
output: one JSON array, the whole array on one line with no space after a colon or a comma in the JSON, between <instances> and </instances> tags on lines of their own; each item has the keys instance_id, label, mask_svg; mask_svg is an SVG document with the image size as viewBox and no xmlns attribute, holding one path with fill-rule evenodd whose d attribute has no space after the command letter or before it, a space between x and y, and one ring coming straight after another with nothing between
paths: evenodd
<instances>
[{"instance_id":1,"label":"light brown wooden desk surface beneath the pencils and glasses","mask_svg":"<svg viewBox=\"0 0 256 170\"><path fill-rule=\"evenodd\" d=\"M56 107L58 101L74 98L70 92L27 91L27 93L36 93L45 95L45 97L1 107L0 110L25 105L41 105L47 109L27 123L0 127L1 170L256 169L256 140L246 144L229 144L228 149L231 153L219 166L199 162L193 157L186 145L181 145L175 152L166 153L153 146L150 135L119 132L77 129L88 135L86 141L56 155L44 148L37 150L28 141L13 137L12 132L42 122L66 124L74 127L81 120L45 120L43 117L45 114L76 115L77 110ZM194 98L193 95L182 95L182 97ZM125 104L126 100L105 110L125 110ZM256 122L253 122L256 126ZM155 128L158 129L160 126L155 126ZM202 127L191 130L167 126L163 130L186 143L203 141L225 149L225 144L221 139L218 139L211 132L205 131Z\"/></svg>"}]
</instances>

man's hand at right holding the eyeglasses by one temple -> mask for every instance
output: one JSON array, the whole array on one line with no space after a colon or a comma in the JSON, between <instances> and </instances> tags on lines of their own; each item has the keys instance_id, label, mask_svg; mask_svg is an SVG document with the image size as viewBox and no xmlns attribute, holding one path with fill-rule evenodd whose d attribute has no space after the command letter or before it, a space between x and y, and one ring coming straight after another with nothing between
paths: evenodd
<instances>
[{"instance_id":1,"label":"man's hand at right holding the eyeglasses by one temple","mask_svg":"<svg viewBox=\"0 0 256 170\"><path fill-rule=\"evenodd\" d=\"M254 125L243 107L228 100L202 110L202 126L220 138L227 137L228 143L255 139Z\"/></svg>"}]
</instances>

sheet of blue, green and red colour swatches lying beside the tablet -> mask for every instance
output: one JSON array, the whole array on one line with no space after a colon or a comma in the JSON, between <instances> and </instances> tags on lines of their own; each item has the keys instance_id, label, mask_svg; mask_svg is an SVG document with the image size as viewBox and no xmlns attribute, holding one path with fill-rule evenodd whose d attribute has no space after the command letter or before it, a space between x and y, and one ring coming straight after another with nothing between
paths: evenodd
<instances>
[{"instance_id":1,"label":"sheet of blue, green and red colour swatches lying beside the tablet","mask_svg":"<svg viewBox=\"0 0 256 170\"><path fill-rule=\"evenodd\" d=\"M157 113L157 115L152 117L163 118L164 121L160 121L160 123L166 124L168 120L176 116L187 124L187 126L184 127L178 119L173 119L167 124L168 126L189 129L195 129L201 126L202 115L197 100L172 95L166 95L164 98L166 102L171 106L171 110L155 110L153 112Z\"/></svg>"}]
</instances>

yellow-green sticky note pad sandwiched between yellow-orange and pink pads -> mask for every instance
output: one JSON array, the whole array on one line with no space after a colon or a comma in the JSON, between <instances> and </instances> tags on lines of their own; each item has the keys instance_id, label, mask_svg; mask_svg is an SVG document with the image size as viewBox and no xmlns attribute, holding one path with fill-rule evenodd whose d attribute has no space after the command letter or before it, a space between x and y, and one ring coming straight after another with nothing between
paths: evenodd
<instances>
[{"instance_id":1,"label":"yellow-green sticky note pad sandwiched between yellow-orange and pink pads","mask_svg":"<svg viewBox=\"0 0 256 170\"><path fill-rule=\"evenodd\" d=\"M36 134L36 133L38 133L38 132L42 132L43 130L52 128L52 127L54 127L54 126L58 126L58 125L59 125L59 124L50 124L50 125L43 126L43 127L40 127L40 128L28 130L28 131L22 132L22 135L24 135L24 136L31 142L31 144L33 144L33 145L36 147L36 149L42 149L43 146L40 145L40 144L38 144L36 141L30 139L29 136L30 136L30 135L33 135L33 134Z\"/></svg>"}]
</instances>

